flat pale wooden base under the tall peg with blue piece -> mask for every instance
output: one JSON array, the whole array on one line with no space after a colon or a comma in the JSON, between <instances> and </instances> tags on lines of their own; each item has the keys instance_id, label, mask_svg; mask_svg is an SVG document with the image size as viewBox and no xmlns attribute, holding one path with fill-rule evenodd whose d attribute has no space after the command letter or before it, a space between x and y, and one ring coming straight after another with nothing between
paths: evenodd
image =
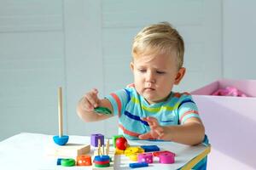
<instances>
[{"instance_id":1,"label":"flat pale wooden base under the tall peg with blue piece","mask_svg":"<svg viewBox=\"0 0 256 170\"><path fill-rule=\"evenodd\" d=\"M90 144L66 144L49 150L49 156L76 157L90 153Z\"/></svg>"}]
</instances>

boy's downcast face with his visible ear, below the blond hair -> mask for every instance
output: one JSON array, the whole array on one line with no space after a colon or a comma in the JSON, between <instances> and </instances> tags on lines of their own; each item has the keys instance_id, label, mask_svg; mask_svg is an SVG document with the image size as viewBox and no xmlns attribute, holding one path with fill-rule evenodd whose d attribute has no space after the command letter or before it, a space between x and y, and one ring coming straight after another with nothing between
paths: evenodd
<instances>
[{"instance_id":1,"label":"boy's downcast face with his visible ear, below the blond hair","mask_svg":"<svg viewBox=\"0 0 256 170\"><path fill-rule=\"evenodd\" d=\"M177 62L166 54L149 54L131 62L135 88L149 104L164 101L174 84L183 78L185 68L177 71Z\"/></svg>"}]
</instances>

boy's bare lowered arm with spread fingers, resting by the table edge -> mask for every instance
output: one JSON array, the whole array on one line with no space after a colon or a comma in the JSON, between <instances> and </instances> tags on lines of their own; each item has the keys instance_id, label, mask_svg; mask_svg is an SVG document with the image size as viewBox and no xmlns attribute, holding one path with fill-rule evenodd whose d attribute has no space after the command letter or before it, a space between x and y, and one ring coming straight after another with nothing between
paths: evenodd
<instances>
[{"instance_id":1,"label":"boy's bare lowered arm with spread fingers, resting by the table edge","mask_svg":"<svg viewBox=\"0 0 256 170\"><path fill-rule=\"evenodd\" d=\"M197 117L190 117L177 126L160 126L154 117L146 117L143 120L148 122L151 131L140 135L140 139L154 138L194 145L200 144L205 136L205 127Z\"/></svg>"}]
</instances>

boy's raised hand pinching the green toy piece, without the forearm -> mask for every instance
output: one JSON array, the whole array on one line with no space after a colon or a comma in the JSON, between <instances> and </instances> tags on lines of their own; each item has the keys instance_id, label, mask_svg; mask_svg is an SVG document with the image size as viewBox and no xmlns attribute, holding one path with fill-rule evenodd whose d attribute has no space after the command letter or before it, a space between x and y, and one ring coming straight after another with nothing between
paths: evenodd
<instances>
[{"instance_id":1,"label":"boy's raised hand pinching the green toy piece, without the forearm","mask_svg":"<svg viewBox=\"0 0 256 170\"><path fill-rule=\"evenodd\" d=\"M100 99L98 98L98 90L93 88L84 95L81 99L81 105L83 105L84 111L94 111L94 108L99 106Z\"/></svg>"}]
</instances>

